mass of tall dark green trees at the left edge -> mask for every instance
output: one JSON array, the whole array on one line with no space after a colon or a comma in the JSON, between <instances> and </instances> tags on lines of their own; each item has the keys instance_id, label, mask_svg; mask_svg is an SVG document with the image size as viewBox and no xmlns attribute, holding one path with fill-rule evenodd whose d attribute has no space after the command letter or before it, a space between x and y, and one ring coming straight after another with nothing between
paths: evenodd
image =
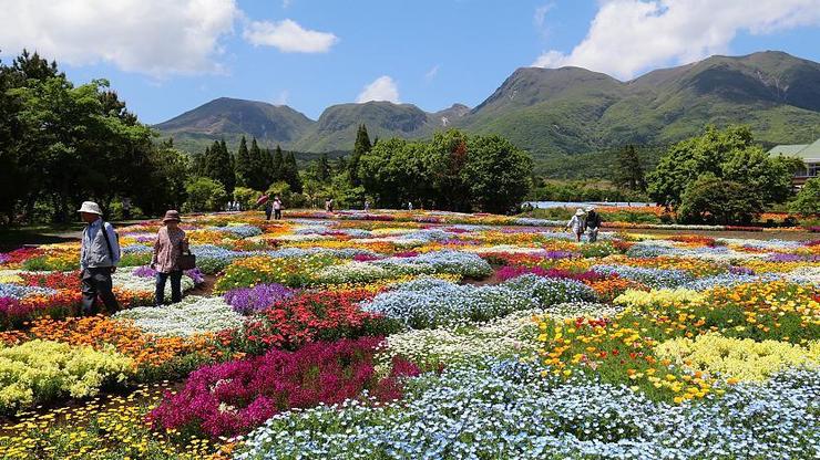
<instances>
[{"instance_id":1,"label":"mass of tall dark green trees at the left edge","mask_svg":"<svg viewBox=\"0 0 820 460\"><path fill-rule=\"evenodd\" d=\"M124 198L151 210L180 203L187 160L153 138L105 80L75 86L37 53L0 63L3 222L66 221L86 199L103 211Z\"/></svg>"}]
</instances>

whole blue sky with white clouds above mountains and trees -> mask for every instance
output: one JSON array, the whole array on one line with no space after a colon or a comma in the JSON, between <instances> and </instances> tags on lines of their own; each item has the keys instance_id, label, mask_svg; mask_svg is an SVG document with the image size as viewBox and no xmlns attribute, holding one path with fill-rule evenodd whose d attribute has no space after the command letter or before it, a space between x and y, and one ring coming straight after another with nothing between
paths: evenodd
<instances>
[{"instance_id":1,"label":"whole blue sky with white clouds above mountains and trees","mask_svg":"<svg viewBox=\"0 0 820 460\"><path fill-rule=\"evenodd\" d=\"M629 80L714 53L820 61L820 0L106 3L0 0L3 60L28 46L74 82L109 79L151 124L219 96L285 103L314 119L357 100L475 106L529 65Z\"/></svg>"}]
</instances>

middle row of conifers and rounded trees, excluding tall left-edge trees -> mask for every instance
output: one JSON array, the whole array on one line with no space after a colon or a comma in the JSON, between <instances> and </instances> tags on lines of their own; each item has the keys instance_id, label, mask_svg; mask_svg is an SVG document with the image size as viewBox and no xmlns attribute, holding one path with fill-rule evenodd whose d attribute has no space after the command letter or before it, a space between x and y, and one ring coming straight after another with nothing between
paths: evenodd
<instances>
[{"instance_id":1,"label":"middle row of conifers and rounded trees, excluding tall left-edge trees","mask_svg":"<svg viewBox=\"0 0 820 460\"><path fill-rule=\"evenodd\" d=\"M469 136L451 129L430 140L390 138L370 142L367 126L359 125L349 158L331 163L327 155L296 169L291 153L247 148L240 140L236 154L215 142L194 159L195 184L214 196L233 197L252 205L264 192L278 194L290 207L315 207L330 198L339 207L445 209L510 212L531 187L532 160L523 150L499 136ZM232 174L233 169L233 174ZM218 199L195 200L204 208ZM193 202L193 201L192 201Z\"/></svg>"}]
</instances>

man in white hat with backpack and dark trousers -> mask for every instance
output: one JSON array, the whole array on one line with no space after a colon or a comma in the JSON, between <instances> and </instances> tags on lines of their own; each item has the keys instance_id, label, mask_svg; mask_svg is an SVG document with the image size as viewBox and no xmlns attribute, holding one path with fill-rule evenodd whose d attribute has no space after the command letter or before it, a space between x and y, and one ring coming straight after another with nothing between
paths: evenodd
<instances>
[{"instance_id":1,"label":"man in white hat with backpack and dark trousers","mask_svg":"<svg viewBox=\"0 0 820 460\"><path fill-rule=\"evenodd\" d=\"M83 314L96 314L98 295L109 313L120 310L112 292L111 274L120 262L120 242L111 223L103 222L100 205L85 201L79 209L86 223L80 249L82 269Z\"/></svg>"}]
</instances>

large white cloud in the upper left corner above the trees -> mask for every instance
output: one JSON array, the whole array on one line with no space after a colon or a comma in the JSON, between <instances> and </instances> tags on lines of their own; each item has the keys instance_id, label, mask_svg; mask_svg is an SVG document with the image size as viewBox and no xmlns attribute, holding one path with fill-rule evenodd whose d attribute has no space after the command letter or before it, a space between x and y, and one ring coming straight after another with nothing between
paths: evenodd
<instances>
[{"instance_id":1,"label":"large white cloud in the upper left corner above the trees","mask_svg":"<svg viewBox=\"0 0 820 460\"><path fill-rule=\"evenodd\" d=\"M222 72L221 39L242 15L235 0L0 0L0 11L3 53L155 77Z\"/></svg>"}]
</instances>

